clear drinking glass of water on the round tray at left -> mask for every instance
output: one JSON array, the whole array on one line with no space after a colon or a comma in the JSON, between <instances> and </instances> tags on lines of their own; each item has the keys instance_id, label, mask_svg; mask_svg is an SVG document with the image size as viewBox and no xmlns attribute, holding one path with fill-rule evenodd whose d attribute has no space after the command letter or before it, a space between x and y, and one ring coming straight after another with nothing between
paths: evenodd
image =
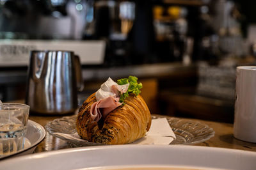
<instances>
[{"instance_id":1,"label":"clear drinking glass of water on the round tray at left","mask_svg":"<svg viewBox=\"0 0 256 170\"><path fill-rule=\"evenodd\" d=\"M29 105L4 103L0 105L0 157L24 148Z\"/></svg>"}]
</instances>

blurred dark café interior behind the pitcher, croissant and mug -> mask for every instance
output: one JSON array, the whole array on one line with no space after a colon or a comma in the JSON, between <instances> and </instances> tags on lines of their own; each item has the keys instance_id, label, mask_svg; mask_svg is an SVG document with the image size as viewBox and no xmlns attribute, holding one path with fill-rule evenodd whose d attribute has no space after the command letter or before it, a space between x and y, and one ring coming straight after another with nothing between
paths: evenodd
<instances>
[{"instance_id":1,"label":"blurred dark caf\u00e9 interior behind the pitcher, croissant and mug","mask_svg":"<svg viewBox=\"0 0 256 170\"><path fill-rule=\"evenodd\" d=\"M0 99L25 97L31 50L74 50L79 104L134 75L152 114L232 123L236 66L255 65L256 1L0 0Z\"/></svg>"}]
</instances>

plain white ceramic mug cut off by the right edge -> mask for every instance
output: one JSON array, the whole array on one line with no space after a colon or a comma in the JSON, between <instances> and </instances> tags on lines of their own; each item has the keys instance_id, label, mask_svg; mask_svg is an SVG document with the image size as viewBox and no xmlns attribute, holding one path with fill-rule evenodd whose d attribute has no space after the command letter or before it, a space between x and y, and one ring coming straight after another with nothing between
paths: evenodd
<instances>
[{"instance_id":1,"label":"plain white ceramic mug cut off by the right edge","mask_svg":"<svg viewBox=\"0 0 256 170\"><path fill-rule=\"evenodd\" d=\"M234 137L256 143L256 66L237 66Z\"/></svg>"}]
</instances>

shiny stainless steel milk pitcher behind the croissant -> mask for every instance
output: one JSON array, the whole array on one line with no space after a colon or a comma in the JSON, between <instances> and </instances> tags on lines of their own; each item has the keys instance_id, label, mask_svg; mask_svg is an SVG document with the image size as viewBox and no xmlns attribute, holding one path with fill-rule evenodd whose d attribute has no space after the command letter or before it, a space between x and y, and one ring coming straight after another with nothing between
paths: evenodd
<instances>
[{"instance_id":1,"label":"shiny stainless steel milk pitcher behind the croissant","mask_svg":"<svg viewBox=\"0 0 256 170\"><path fill-rule=\"evenodd\" d=\"M81 65L74 52L31 51L26 104L39 114L68 114L77 109L83 86Z\"/></svg>"}]
</instances>

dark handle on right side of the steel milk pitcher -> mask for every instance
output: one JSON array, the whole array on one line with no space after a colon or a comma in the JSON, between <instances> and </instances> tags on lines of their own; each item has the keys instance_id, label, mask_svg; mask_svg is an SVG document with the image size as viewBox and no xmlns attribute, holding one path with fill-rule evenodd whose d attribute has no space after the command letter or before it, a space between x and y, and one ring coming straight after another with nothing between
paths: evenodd
<instances>
[{"instance_id":1,"label":"dark handle on right side of the steel milk pitcher","mask_svg":"<svg viewBox=\"0 0 256 170\"><path fill-rule=\"evenodd\" d=\"M75 66L75 74L76 74L77 91L83 91L84 82L83 82L83 76L82 76L81 62L80 62L79 56L77 55L75 55L74 57L74 66Z\"/></svg>"}]
</instances>

